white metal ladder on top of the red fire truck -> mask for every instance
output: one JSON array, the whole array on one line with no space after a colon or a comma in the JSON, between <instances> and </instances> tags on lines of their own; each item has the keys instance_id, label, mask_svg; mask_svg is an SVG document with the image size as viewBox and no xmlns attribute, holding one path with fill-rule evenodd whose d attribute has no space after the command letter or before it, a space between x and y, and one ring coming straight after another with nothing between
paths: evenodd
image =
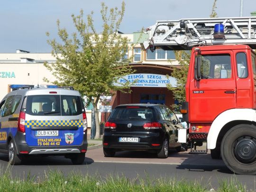
<instances>
[{"instance_id":1,"label":"white metal ladder on top of the red fire truck","mask_svg":"<svg viewBox=\"0 0 256 192\"><path fill-rule=\"evenodd\" d=\"M224 25L224 38L217 39L214 25ZM144 47L153 51L190 50L192 46L215 44L247 44L256 49L256 17L193 18L157 21L146 28L149 33Z\"/></svg>"}]
</instances>

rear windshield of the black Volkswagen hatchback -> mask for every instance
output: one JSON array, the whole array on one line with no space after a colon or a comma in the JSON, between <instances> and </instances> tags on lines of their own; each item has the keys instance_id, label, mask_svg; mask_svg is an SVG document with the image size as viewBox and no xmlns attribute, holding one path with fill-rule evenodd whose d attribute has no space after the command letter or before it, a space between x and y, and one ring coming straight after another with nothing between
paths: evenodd
<instances>
[{"instance_id":1,"label":"rear windshield of the black Volkswagen hatchback","mask_svg":"<svg viewBox=\"0 0 256 192\"><path fill-rule=\"evenodd\" d=\"M116 108L112 112L111 119L152 119L153 110L144 107Z\"/></svg>"}]
</instances>

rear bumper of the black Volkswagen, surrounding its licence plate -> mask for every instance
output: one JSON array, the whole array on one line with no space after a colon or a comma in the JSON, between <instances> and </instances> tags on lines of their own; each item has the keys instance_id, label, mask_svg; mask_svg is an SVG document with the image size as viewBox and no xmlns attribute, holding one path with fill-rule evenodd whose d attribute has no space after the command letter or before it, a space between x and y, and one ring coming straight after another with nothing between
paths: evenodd
<instances>
[{"instance_id":1,"label":"rear bumper of the black Volkswagen, surrounding its licence plate","mask_svg":"<svg viewBox=\"0 0 256 192\"><path fill-rule=\"evenodd\" d=\"M119 142L120 137L138 137L138 142ZM163 136L160 133L120 134L105 132L103 147L117 150L159 150L162 148Z\"/></svg>"}]
</instances>

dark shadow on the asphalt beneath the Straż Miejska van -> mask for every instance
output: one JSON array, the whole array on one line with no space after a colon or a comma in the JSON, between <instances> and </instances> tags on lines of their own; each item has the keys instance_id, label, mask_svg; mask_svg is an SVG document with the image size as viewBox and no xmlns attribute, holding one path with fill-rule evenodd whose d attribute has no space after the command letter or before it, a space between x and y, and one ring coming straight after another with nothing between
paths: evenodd
<instances>
[{"instance_id":1,"label":"dark shadow on the asphalt beneath the Stra\u017c Miejska van","mask_svg":"<svg viewBox=\"0 0 256 192\"><path fill-rule=\"evenodd\" d=\"M7 154L0 154L0 161L4 161L6 164L9 161ZM94 160L91 158L85 157L83 165L90 165L94 163ZM27 166L45 166L45 165L73 165L70 159L64 158L64 156L30 156L26 160L23 160L21 165Z\"/></svg>"}]
</instances>

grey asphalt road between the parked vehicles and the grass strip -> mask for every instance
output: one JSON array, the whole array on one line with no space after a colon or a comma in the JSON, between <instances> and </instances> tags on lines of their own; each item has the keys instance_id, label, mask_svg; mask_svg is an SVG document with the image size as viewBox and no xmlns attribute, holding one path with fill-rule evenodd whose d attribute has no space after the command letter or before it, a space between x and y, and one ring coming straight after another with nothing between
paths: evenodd
<instances>
[{"instance_id":1,"label":"grey asphalt road between the parked vehicles and the grass strip","mask_svg":"<svg viewBox=\"0 0 256 192\"><path fill-rule=\"evenodd\" d=\"M1 171L8 166L8 156L0 154ZM72 165L70 159L64 157L33 157L23 165L10 168L13 176L20 178L31 176L44 178L49 170L60 170L64 175L79 173L82 175L98 175L101 178L125 176L136 178L175 178L189 181L201 181L209 188L217 188L223 180L237 179L246 184L247 189L256 191L256 176L234 175L221 159L214 160L210 154L192 155L187 152L171 152L167 159L157 159L154 154L141 151L117 152L115 158L103 157L102 148L88 150L83 165Z\"/></svg>"}]
</instances>

